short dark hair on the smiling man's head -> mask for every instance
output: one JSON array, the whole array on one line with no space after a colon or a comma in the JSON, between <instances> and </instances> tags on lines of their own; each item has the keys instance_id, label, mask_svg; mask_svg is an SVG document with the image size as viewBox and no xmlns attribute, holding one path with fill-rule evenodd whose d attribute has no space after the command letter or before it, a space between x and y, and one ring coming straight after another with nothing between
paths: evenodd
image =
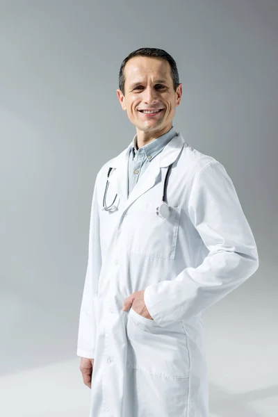
<instances>
[{"instance_id":1,"label":"short dark hair on the smiling man's head","mask_svg":"<svg viewBox=\"0 0 278 417\"><path fill-rule=\"evenodd\" d=\"M124 60L122 61L120 72L119 72L119 88L122 91L122 94L124 95L124 67L126 66L126 63L128 60L133 58L134 56L148 56L149 58L162 58L168 61L170 63L171 67L171 74L172 74L172 81L173 81L173 87L174 91L177 91L177 87L179 86L179 72L177 69L177 64L174 58L170 56L170 54L167 54L164 49L158 49L158 48L140 48L136 49L136 51L131 52Z\"/></svg>"}]
</instances>

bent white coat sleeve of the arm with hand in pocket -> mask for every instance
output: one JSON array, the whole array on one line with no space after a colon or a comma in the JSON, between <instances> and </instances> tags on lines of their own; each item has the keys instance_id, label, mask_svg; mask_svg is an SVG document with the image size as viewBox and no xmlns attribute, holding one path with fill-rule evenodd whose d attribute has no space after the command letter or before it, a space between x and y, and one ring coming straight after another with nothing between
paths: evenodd
<instances>
[{"instance_id":1,"label":"bent white coat sleeve of the arm with hand in pocket","mask_svg":"<svg viewBox=\"0 0 278 417\"><path fill-rule=\"evenodd\" d=\"M162 327L202 313L259 268L254 236L219 161L206 163L195 177L186 211L209 252L197 268L145 288L147 309Z\"/></svg>"}]
</instances>

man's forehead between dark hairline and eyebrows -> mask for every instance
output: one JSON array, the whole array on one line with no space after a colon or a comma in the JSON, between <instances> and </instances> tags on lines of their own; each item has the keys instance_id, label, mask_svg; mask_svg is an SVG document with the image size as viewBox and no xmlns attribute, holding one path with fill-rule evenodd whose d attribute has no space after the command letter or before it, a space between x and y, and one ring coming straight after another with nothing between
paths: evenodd
<instances>
[{"instance_id":1,"label":"man's forehead between dark hairline and eyebrows","mask_svg":"<svg viewBox=\"0 0 278 417\"><path fill-rule=\"evenodd\" d=\"M171 67L167 60L161 58L149 58L147 56L135 56L127 61L124 67L125 79L131 83L147 78L159 78L170 81Z\"/></svg>"}]
</instances>

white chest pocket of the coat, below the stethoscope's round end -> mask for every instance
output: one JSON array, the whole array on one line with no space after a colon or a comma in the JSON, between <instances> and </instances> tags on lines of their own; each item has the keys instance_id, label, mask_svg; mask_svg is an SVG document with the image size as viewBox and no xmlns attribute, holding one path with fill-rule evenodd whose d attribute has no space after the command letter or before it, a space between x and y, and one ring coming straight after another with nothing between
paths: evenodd
<instances>
[{"instance_id":1,"label":"white chest pocket of the coat, below the stethoscope's round end","mask_svg":"<svg viewBox=\"0 0 278 417\"><path fill-rule=\"evenodd\" d=\"M157 204L156 204L157 205ZM162 259L174 259L181 206L170 206L170 216L162 219L154 204L131 206L126 212L126 247L129 252Z\"/></svg>"}]
</instances>

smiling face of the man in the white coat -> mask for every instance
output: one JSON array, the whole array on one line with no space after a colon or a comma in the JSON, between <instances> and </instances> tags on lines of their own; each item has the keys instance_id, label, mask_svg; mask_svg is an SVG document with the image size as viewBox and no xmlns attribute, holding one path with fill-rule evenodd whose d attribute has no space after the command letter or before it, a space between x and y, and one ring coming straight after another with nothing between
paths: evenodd
<instances>
[{"instance_id":1,"label":"smiling face of the man in the white coat","mask_svg":"<svg viewBox=\"0 0 278 417\"><path fill-rule=\"evenodd\" d=\"M172 127L176 106L179 106L182 85L174 91L171 67L167 60L136 56L124 68L125 84L122 95L117 90L122 109L137 131L159 136ZM142 110L161 109L155 115Z\"/></svg>"}]
</instances>

